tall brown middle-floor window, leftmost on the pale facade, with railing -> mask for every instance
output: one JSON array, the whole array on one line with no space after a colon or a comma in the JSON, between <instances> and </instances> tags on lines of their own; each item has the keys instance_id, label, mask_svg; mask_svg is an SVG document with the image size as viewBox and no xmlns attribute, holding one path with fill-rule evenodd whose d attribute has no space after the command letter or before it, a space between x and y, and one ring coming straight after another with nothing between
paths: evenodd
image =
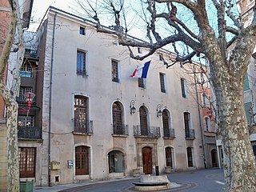
<instances>
[{"instance_id":1,"label":"tall brown middle-floor window, leftmost on the pale facade, with railing","mask_svg":"<svg viewBox=\"0 0 256 192\"><path fill-rule=\"evenodd\" d=\"M87 133L89 131L88 121L88 98L74 96L74 131Z\"/></svg>"}]
</instances>

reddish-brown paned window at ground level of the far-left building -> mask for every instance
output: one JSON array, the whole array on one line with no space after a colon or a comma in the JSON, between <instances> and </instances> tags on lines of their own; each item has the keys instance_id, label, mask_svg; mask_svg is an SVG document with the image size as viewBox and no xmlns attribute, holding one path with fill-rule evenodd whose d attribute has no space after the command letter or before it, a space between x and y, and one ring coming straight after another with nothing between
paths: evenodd
<instances>
[{"instance_id":1,"label":"reddish-brown paned window at ground level of the far-left building","mask_svg":"<svg viewBox=\"0 0 256 192\"><path fill-rule=\"evenodd\" d=\"M35 178L35 147L18 147L19 177Z\"/></svg>"}]
</instances>

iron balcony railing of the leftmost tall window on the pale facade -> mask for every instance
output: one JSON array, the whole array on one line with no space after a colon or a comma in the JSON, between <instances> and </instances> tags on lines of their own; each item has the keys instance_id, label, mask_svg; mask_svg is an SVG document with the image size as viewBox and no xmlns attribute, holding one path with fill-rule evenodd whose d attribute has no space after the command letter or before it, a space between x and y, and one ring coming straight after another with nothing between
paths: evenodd
<instances>
[{"instance_id":1,"label":"iron balcony railing of the leftmost tall window on the pale facade","mask_svg":"<svg viewBox=\"0 0 256 192\"><path fill-rule=\"evenodd\" d=\"M74 132L80 134L93 134L93 121L86 121L79 118L73 118Z\"/></svg>"}]
</instances>

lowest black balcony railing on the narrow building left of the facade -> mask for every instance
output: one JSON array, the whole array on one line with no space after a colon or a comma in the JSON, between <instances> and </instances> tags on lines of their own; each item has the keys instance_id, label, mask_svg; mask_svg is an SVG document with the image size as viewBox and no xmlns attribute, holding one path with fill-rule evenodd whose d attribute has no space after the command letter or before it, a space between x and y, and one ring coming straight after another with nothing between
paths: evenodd
<instances>
[{"instance_id":1,"label":"lowest black balcony railing on the narrow building left of the facade","mask_svg":"<svg viewBox=\"0 0 256 192\"><path fill-rule=\"evenodd\" d=\"M42 139L40 127L18 126L18 138Z\"/></svg>"}]
</instances>

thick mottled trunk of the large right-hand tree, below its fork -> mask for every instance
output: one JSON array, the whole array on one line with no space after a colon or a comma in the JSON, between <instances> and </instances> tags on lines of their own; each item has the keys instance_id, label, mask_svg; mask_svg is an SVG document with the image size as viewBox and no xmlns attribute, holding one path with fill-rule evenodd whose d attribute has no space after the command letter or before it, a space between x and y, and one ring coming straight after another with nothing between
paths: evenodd
<instances>
[{"instance_id":1,"label":"thick mottled trunk of the large right-hand tree, below its fork","mask_svg":"<svg viewBox=\"0 0 256 192\"><path fill-rule=\"evenodd\" d=\"M255 192L256 163L249 138L242 86L223 80L216 89L224 154L224 191Z\"/></svg>"}]
</instances>

